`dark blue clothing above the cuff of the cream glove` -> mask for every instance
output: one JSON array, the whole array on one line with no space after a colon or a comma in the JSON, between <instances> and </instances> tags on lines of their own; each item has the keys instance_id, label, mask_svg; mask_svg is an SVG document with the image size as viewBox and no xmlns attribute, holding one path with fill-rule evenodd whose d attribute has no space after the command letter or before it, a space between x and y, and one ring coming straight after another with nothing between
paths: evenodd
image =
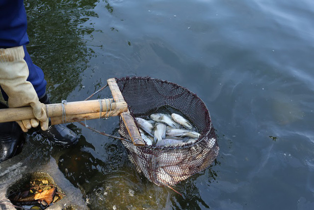
<instances>
[{"instance_id":1,"label":"dark blue clothing above the cuff of the cream glove","mask_svg":"<svg viewBox=\"0 0 314 210\"><path fill-rule=\"evenodd\" d=\"M23 0L0 0L0 48L28 44Z\"/></svg>"}]
</instances>

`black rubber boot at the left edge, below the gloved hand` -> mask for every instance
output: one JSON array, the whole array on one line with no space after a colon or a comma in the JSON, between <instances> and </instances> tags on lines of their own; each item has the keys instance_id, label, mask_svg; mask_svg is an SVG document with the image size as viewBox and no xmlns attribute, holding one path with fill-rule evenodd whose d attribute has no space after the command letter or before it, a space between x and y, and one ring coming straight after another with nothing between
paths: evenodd
<instances>
[{"instance_id":1,"label":"black rubber boot at the left edge, below the gloved hand","mask_svg":"<svg viewBox=\"0 0 314 210\"><path fill-rule=\"evenodd\" d=\"M5 108L8 107L0 102L0 109ZM0 123L0 162L19 154L24 142L24 134L18 123Z\"/></svg>"}]
</instances>

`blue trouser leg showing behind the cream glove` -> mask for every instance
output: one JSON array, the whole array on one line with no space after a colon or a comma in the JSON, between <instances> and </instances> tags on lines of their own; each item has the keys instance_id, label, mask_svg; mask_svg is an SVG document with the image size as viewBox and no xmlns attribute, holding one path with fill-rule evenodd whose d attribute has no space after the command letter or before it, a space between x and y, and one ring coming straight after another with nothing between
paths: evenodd
<instances>
[{"instance_id":1,"label":"blue trouser leg showing behind the cream glove","mask_svg":"<svg viewBox=\"0 0 314 210\"><path fill-rule=\"evenodd\" d=\"M24 52L25 52L24 60L26 61L27 66L28 66L28 70L29 70L29 75L28 75L27 81L29 81L34 86L34 89L38 95L38 98L42 98L46 93L46 86L47 86L47 82L44 79L44 72L41 68L39 68L37 65L35 65L32 62L32 60L30 59L30 56L26 50L25 45L23 46L23 48L24 48ZM8 96L2 90L2 88L1 88L1 92L2 92L2 96L3 96L4 100L7 101Z\"/></svg>"}]
</instances>

